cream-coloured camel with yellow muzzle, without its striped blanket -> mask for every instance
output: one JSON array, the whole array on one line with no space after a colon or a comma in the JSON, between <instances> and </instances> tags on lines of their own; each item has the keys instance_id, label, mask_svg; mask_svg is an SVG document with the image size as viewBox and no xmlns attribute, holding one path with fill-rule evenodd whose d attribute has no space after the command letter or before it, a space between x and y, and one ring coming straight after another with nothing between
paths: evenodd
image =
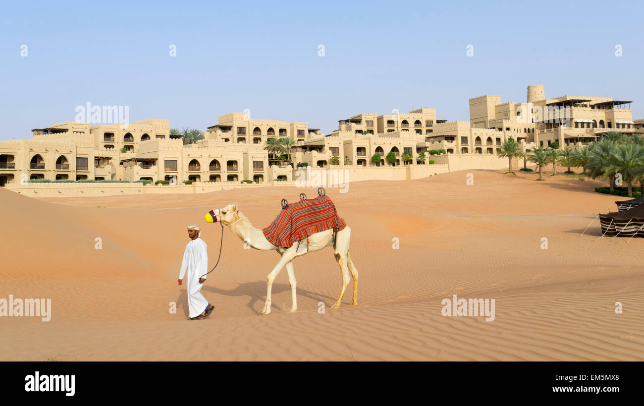
<instances>
[{"instance_id":1,"label":"cream-coloured camel with yellow muzzle, without its striped blanket","mask_svg":"<svg viewBox=\"0 0 644 406\"><path fill-rule=\"evenodd\" d=\"M222 227L231 229L233 234L238 236L243 242L248 243L252 248L262 251L274 249L281 256L277 265L275 265L272 272L270 272L269 276L266 278L266 283L268 285L266 303L264 304L264 308L261 310L260 314L270 314L270 290L272 288L273 281L283 267L286 267L289 272L289 285L293 301L293 305L289 313L296 312L296 310L298 310L298 301L295 294L297 281L295 279L293 264L291 261L293 258L303 256L308 252L319 251L325 247L334 248L336 261L340 265L340 270L342 271L342 290L340 292L340 297L337 298L336 303L331 306L331 308L336 309L340 306L346 287L349 284L349 272L351 272L351 276L354 281L354 299L351 304L353 306L357 304L358 271L355 269L355 265L351 261L351 256L349 255L351 229L348 225L341 231L335 232L333 229L328 229L321 231L320 233L312 234L308 236L308 243L307 240L301 240L299 243L294 243L291 247L285 248L278 247L277 245L270 243L264 236L261 229L253 227L251 221L238 210L236 204L229 204L221 209L214 209L213 213L216 215L217 221L222 223ZM207 222L213 222L210 215L206 215L205 218ZM333 236L334 233L336 234L335 238Z\"/></svg>"}]
</instances>

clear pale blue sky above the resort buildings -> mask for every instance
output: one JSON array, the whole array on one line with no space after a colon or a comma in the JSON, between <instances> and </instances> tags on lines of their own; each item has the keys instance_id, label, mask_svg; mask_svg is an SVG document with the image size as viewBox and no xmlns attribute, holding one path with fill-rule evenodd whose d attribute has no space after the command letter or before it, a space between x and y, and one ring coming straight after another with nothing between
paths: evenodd
<instances>
[{"instance_id":1,"label":"clear pale blue sky above the resort buildings","mask_svg":"<svg viewBox=\"0 0 644 406\"><path fill-rule=\"evenodd\" d=\"M205 130L251 109L328 134L360 112L435 107L468 120L468 98L526 101L529 84L634 100L644 118L643 11L636 1L4 3L0 140L73 121L87 101L128 105L130 122Z\"/></svg>"}]
</instances>

